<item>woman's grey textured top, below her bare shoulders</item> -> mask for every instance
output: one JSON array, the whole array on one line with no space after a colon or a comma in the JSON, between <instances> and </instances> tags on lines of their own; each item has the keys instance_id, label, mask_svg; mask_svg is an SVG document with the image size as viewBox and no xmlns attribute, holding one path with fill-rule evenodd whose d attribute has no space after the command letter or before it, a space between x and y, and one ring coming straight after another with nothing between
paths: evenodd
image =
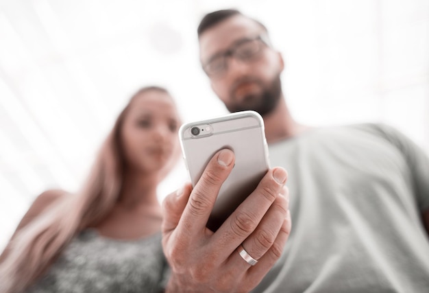
<instances>
[{"instance_id":1,"label":"woman's grey textured top, below her bare shoulders","mask_svg":"<svg viewBox=\"0 0 429 293\"><path fill-rule=\"evenodd\" d=\"M169 268L161 233L136 241L79 233L27 293L163 292Z\"/></svg>"}]
</instances>

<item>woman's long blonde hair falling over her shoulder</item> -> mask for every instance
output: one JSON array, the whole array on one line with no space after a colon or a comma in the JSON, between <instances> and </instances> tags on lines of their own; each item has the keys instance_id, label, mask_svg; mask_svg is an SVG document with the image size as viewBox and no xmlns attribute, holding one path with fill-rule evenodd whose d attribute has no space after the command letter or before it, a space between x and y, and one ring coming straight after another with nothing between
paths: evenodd
<instances>
[{"instance_id":1,"label":"woman's long blonde hair falling over her shoulder","mask_svg":"<svg viewBox=\"0 0 429 293\"><path fill-rule=\"evenodd\" d=\"M111 211L119 198L125 160L121 128L133 100L147 91L168 91L147 86L135 93L101 145L92 169L79 192L62 196L49 209L21 228L6 247L0 263L0 292L25 290L44 272L72 237L93 226Z\"/></svg>"}]
</instances>

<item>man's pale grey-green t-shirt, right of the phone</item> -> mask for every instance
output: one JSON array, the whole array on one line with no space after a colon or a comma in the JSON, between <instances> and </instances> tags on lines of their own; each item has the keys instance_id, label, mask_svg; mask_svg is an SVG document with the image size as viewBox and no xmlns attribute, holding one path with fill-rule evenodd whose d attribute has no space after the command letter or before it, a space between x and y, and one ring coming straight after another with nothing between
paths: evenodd
<instances>
[{"instance_id":1,"label":"man's pale grey-green t-shirt, right of the phone","mask_svg":"<svg viewBox=\"0 0 429 293\"><path fill-rule=\"evenodd\" d=\"M429 160L384 125L269 145L289 174L292 231L255 292L429 292Z\"/></svg>"}]
</instances>

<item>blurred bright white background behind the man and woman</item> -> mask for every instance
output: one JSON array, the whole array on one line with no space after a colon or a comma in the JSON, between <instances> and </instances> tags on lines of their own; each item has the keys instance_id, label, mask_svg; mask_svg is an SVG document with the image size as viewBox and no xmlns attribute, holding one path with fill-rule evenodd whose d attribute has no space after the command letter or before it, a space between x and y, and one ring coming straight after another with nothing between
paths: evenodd
<instances>
[{"instance_id":1,"label":"blurred bright white background behind the man and woman","mask_svg":"<svg viewBox=\"0 0 429 293\"><path fill-rule=\"evenodd\" d=\"M267 25L295 119L382 121L429 153L428 0L0 0L0 249L40 192L77 190L141 86L166 86L185 122L226 113L196 35L221 8ZM184 180L179 163L160 200Z\"/></svg>"}]
</instances>

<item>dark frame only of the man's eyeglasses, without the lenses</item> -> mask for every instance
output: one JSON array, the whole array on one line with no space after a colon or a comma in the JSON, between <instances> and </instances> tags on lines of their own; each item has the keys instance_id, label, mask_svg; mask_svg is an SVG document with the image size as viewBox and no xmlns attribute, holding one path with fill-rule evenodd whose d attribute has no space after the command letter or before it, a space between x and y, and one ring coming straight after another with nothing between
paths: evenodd
<instances>
[{"instance_id":1,"label":"dark frame only of the man's eyeglasses, without the lenses","mask_svg":"<svg viewBox=\"0 0 429 293\"><path fill-rule=\"evenodd\" d=\"M269 42L269 39L267 36L265 36L265 34L260 34L254 38L241 38L239 40L236 40L233 43L233 45L231 45L228 49L220 51L219 53L210 57L210 59L205 64L201 65L203 71L210 78L211 77L221 77L222 75L224 75L228 71L228 57L236 58L236 56L235 56L236 48L239 47L240 45L243 45L243 43L253 42L255 40L260 41L260 43L262 43L262 45L265 45L266 47L271 47L271 43ZM262 47L256 53L260 53L261 51L262 51ZM215 60L215 58L219 58L219 57L222 57L224 60L224 64L225 64L224 69L222 69L221 71L217 71L218 73L208 73L208 71L206 70L207 65L209 65L210 62L212 62L212 60ZM238 57L238 60L243 61L243 62L248 62L247 60L241 59L239 57Z\"/></svg>"}]
</instances>

